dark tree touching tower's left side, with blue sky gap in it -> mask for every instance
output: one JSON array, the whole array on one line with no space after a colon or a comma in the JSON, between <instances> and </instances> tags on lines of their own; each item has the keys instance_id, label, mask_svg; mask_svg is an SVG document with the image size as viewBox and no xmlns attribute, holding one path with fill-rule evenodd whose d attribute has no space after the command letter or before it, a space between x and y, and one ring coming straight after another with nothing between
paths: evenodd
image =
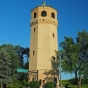
<instances>
[{"instance_id":1,"label":"dark tree touching tower's left side, with blue sky gap in it","mask_svg":"<svg viewBox=\"0 0 88 88\"><path fill-rule=\"evenodd\" d=\"M16 48L18 48L18 56L21 60L21 68L24 68L24 69L28 69L29 68L29 48L23 48L23 47L19 47L19 46L16 46ZM24 73L20 73L20 78L19 80L22 81L22 80L27 80L28 81L28 74L24 74Z\"/></svg>"}]
</instances>

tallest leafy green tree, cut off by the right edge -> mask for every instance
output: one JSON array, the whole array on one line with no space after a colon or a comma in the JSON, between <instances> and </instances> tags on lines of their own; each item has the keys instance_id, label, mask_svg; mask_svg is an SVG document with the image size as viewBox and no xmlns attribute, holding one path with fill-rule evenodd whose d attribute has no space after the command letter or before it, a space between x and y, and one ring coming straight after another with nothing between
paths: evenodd
<instances>
[{"instance_id":1,"label":"tallest leafy green tree, cut off by the right edge","mask_svg":"<svg viewBox=\"0 0 88 88\"><path fill-rule=\"evenodd\" d=\"M81 76L88 71L88 32L78 32L78 37L76 38L77 45L79 46L79 81L78 85L81 83Z\"/></svg>"}]
</instances>

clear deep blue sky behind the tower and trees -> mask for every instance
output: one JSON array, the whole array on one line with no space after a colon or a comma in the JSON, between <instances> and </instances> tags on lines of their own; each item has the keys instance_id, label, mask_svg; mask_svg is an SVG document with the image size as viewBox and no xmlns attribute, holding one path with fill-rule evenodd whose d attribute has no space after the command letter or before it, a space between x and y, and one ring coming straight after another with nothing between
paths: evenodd
<instances>
[{"instance_id":1,"label":"clear deep blue sky behind the tower and trees","mask_svg":"<svg viewBox=\"0 0 88 88\"><path fill-rule=\"evenodd\" d=\"M30 48L31 9L43 0L0 0L0 45L13 44ZM88 0L45 0L58 11L58 42L64 36L77 37L78 31L88 32ZM61 49L59 47L59 49ZM62 79L74 75L62 73Z\"/></svg>"}]
</instances>

